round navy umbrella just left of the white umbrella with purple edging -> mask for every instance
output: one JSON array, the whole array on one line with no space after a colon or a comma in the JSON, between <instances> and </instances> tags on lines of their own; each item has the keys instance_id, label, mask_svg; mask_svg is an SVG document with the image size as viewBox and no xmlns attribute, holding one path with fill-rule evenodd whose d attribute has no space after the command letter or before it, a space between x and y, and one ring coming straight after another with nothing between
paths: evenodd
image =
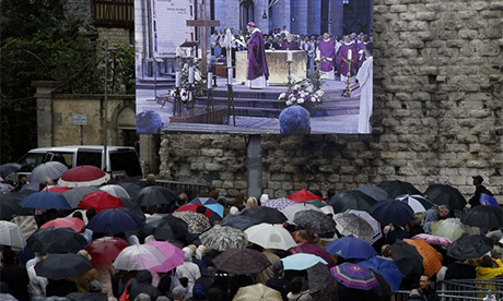
<instances>
[{"instance_id":1,"label":"round navy umbrella just left of the white umbrella with purple edging","mask_svg":"<svg viewBox=\"0 0 503 301\"><path fill-rule=\"evenodd\" d=\"M383 222L398 225L403 225L414 218L414 212L409 205L391 198L375 203L371 208L371 215Z\"/></svg>"}]
</instances>

